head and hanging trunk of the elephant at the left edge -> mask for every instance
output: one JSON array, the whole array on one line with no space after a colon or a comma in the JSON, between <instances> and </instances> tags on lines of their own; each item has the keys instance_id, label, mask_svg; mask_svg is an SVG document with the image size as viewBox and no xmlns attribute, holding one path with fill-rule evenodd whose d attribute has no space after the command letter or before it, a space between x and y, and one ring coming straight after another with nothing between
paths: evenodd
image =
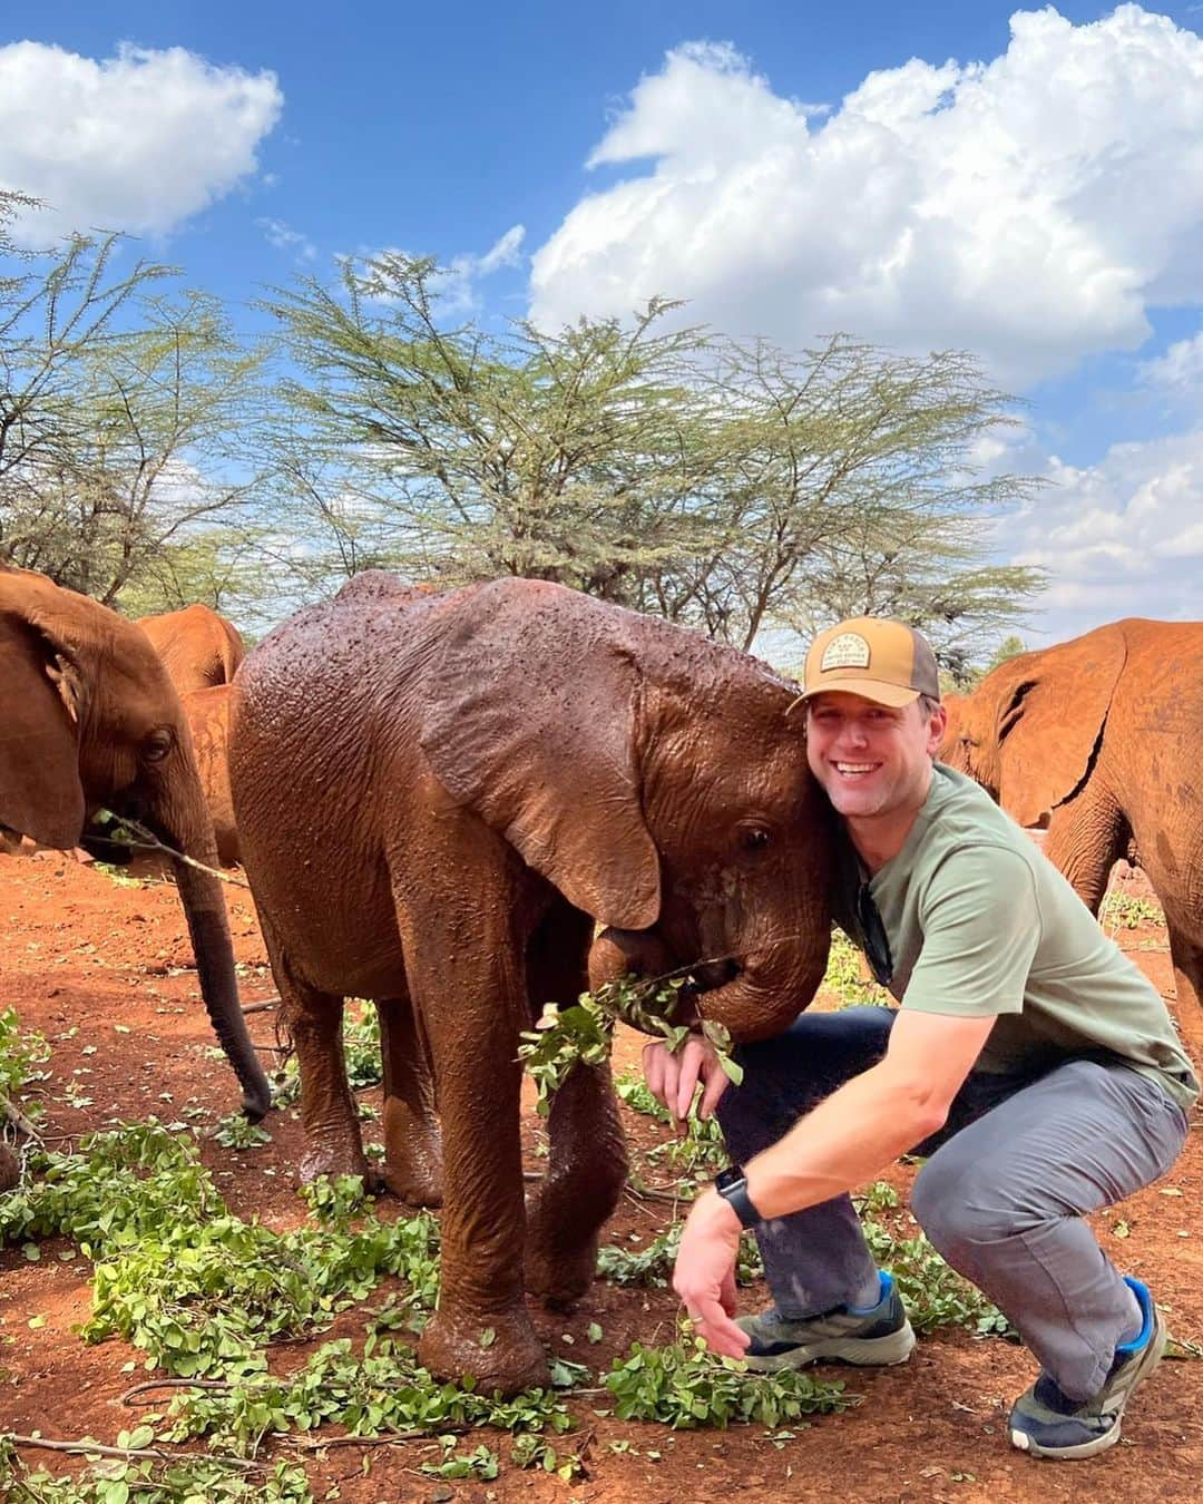
<instances>
[{"instance_id":1,"label":"head and hanging trunk of the elephant at the left edge","mask_svg":"<svg viewBox=\"0 0 1203 1504\"><path fill-rule=\"evenodd\" d=\"M44 575L0 570L0 824L42 845L80 844L101 808L138 820L206 865L217 851L188 725L141 632ZM202 994L262 1117L271 1086L247 1033L220 883L176 862Z\"/></svg>"}]
</instances>

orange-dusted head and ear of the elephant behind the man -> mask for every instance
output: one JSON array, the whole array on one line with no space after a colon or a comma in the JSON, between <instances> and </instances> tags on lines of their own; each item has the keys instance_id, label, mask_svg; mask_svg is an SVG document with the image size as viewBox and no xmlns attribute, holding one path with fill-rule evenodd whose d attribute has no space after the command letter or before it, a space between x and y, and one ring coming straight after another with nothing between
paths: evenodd
<instances>
[{"instance_id":1,"label":"orange-dusted head and ear of the elephant behind the man","mask_svg":"<svg viewBox=\"0 0 1203 1504\"><path fill-rule=\"evenodd\" d=\"M1126 645L1119 626L1008 659L949 711L940 760L1021 826L1048 824L1086 778Z\"/></svg>"}]
</instances>

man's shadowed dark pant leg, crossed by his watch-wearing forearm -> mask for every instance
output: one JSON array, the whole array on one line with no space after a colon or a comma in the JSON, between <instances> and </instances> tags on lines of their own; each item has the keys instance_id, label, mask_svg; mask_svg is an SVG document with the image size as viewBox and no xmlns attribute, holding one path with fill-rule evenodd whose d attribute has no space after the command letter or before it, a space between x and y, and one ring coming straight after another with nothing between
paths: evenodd
<instances>
[{"instance_id":1,"label":"man's shadowed dark pant leg, crossed by his watch-wearing forearm","mask_svg":"<svg viewBox=\"0 0 1203 1504\"><path fill-rule=\"evenodd\" d=\"M877 1065L893 1017L889 1008L806 1012L783 1035L740 1045L735 1059L744 1078L723 1092L717 1111L731 1158L744 1163L783 1139L803 1113ZM761 1223L756 1242L782 1316L818 1316L875 1299L877 1263L848 1196Z\"/></svg>"}]
</instances>

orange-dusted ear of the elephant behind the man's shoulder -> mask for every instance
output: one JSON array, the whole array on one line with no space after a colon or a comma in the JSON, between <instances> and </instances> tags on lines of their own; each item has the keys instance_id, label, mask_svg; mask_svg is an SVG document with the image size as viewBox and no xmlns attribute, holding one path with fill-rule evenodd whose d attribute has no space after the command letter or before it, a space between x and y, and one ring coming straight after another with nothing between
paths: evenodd
<instances>
[{"instance_id":1,"label":"orange-dusted ear of the elephant behind the man's shoulder","mask_svg":"<svg viewBox=\"0 0 1203 1504\"><path fill-rule=\"evenodd\" d=\"M1126 653L1110 626L997 671L998 803L1021 826L1047 823L1086 776Z\"/></svg>"}]
</instances>

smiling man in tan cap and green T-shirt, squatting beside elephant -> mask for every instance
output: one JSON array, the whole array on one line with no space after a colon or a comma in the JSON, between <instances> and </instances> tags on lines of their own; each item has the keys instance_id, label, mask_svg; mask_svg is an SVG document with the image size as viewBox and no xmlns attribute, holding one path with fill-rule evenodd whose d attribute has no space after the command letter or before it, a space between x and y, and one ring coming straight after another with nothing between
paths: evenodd
<instances>
[{"instance_id":1,"label":"smiling man in tan cap and green T-shirt, squatting beside elephant","mask_svg":"<svg viewBox=\"0 0 1203 1504\"><path fill-rule=\"evenodd\" d=\"M841 817L836 917L901 1006L801 1014L737 1053L644 1050L684 1117L717 1108L735 1166L693 1205L674 1286L716 1352L753 1367L902 1363L914 1334L848 1193L929 1155L911 1209L1041 1364L1012 1442L1089 1457L1165 1346L1149 1290L1083 1214L1164 1173L1198 1093L1165 1008L1068 881L971 781L934 761L935 659L899 623L844 621L806 659L806 754ZM738 1322L756 1229L774 1307Z\"/></svg>"}]
</instances>

